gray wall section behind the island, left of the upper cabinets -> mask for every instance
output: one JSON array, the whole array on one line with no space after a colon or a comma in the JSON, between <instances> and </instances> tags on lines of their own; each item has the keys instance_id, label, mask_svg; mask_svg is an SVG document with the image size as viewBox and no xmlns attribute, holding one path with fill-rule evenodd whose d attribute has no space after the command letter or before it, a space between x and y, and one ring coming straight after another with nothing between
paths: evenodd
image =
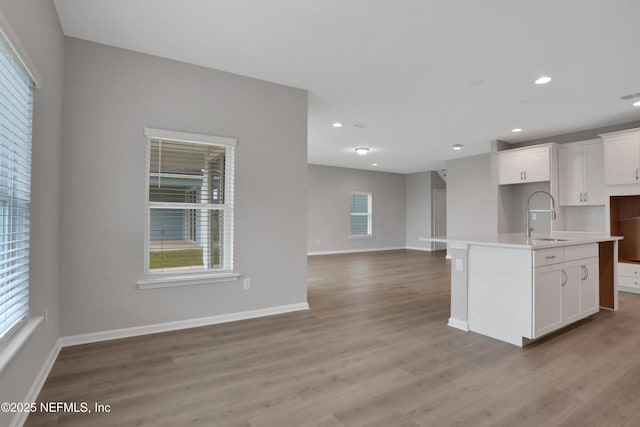
<instances>
[{"instance_id":1,"label":"gray wall section behind the island, left of the upper cabinets","mask_svg":"<svg viewBox=\"0 0 640 427\"><path fill-rule=\"evenodd\" d=\"M447 236L498 232L492 154L447 161Z\"/></svg>"}]
</instances>

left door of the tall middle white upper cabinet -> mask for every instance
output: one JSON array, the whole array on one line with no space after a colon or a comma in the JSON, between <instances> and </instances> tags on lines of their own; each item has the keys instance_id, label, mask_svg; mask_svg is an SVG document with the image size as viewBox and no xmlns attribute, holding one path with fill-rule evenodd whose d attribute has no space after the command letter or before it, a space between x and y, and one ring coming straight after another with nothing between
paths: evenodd
<instances>
[{"instance_id":1,"label":"left door of the tall middle white upper cabinet","mask_svg":"<svg viewBox=\"0 0 640 427\"><path fill-rule=\"evenodd\" d=\"M581 146L558 150L558 191L561 206L577 206L583 203L584 156ZM604 187L603 187L604 189Z\"/></svg>"}]
</instances>

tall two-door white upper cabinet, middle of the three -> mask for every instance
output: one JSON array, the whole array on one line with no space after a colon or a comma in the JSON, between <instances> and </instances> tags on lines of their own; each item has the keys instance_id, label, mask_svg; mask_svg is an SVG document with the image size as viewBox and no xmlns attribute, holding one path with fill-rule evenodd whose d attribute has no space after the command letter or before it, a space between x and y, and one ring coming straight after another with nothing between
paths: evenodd
<instances>
[{"instance_id":1,"label":"tall two-door white upper cabinet, middle of the three","mask_svg":"<svg viewBox=\"0 0 640 427\"><path fill-rule=\"evenodd\" d=\"M604 205L604 144L600 140L558 149L561 206Z\"/></svg>"}]
</instances>

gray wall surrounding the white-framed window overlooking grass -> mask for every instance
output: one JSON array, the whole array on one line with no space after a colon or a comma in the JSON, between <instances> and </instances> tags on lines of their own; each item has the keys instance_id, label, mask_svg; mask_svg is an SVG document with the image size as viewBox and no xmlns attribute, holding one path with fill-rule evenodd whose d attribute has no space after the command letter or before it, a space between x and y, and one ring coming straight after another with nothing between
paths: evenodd
<instances>
[{"instance_id":1,"label":"gray wall surrounding the white-framed window overlooking grass","mask_svg":"<svg viewBox=\"0 0 640 427\"><path fill-rule=\"evenodd\" d=\"M65 39L62 334L306 302L307 93ZM238 139L240 281L138 290L145 127Z\"/></svg>"}]
</instances>

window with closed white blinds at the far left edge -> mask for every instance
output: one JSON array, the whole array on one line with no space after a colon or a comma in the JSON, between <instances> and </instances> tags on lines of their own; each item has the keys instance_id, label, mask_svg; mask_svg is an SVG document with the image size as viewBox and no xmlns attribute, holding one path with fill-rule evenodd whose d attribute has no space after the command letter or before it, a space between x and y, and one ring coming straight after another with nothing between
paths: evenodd
<instances>
[{"instance_id":1,"label":"window with closed white blinds at the far left edge","mask_svg":"<svg viewBox=\"0 0 640 427\"><path fill-rule=\"evenodd\" d=\"M0 36L0 338L29 315L33 87Z\"/></svg>"}]
</instances>

